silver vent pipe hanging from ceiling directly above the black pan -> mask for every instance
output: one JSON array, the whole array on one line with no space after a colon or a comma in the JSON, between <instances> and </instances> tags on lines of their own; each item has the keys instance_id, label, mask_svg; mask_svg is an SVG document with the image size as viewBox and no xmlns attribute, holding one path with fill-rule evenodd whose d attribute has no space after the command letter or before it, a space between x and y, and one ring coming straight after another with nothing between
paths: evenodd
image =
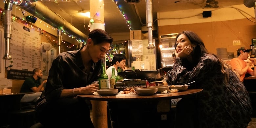
<instances>
[{"instance_id":1,"label":"silver vent pipe hanging from ceiling directly above the black pan","mask_svg":"<svg viewBox=\"0 0 256 128\"><path fill-rule=\"evenodd\" d=\"M154 49L153 43L153 13L152 13L152 0L146 0L146 21L148 28L148 46L147 49Z\"/></svg>"}]
</instances>

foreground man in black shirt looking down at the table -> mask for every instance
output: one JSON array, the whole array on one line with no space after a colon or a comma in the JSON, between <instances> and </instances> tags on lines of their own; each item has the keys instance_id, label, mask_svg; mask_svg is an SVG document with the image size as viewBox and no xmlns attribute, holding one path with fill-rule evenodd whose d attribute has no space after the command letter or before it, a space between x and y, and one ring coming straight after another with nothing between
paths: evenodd
<instances>
[{"instance_id":1,"label":"foreground man in black shirt looking down at the table","mask_svg":"<svg viewBox=\"0 0 256 128\"><path fill-rule=\"evenodd\" d=\"M36 117L48 127L93 128L88 105L77 95L96 92L101 63L113 38L104 30L88 34L86 45L78 51L60 53L54 60L44 91L36 106ZM41 100L43 99L43 100Z\"/></svg>"}]
</instances>

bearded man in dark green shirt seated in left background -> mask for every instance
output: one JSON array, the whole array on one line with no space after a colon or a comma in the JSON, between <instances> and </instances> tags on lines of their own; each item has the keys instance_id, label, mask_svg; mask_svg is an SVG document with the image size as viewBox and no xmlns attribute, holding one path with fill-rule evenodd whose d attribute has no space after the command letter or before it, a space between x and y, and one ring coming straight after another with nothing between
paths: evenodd
<instances>
[{"instance_id":1,"label":"bearded man in dark green shirt seated in left background","mask_svg":"<svg viewBox=\"0 0 256 128\"><path fill-rule=\"evenodd\" d=\"M42 92L40 91L44 89L44 83L47 82L47 80L44 80L41 83L42 76L42 70L35 68L33 70L33 75L25 79L24 83L21 86L20 93L36 93L24 95L21 99L21 102L36 102L36 100L39 99L40 95L42 94Z\"/></svg>"}]
</instances>

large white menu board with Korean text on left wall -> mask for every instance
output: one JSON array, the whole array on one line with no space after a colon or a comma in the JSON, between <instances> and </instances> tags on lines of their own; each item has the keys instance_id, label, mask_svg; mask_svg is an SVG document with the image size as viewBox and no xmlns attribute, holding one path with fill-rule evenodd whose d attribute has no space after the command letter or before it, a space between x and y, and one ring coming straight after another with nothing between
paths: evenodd
<instances>
[{"instance_id":1,"label":"large white menu board with Korean text on left wall","mask_svg":"<svg viewBox=\"0 0 256 128\"><path fill-rule=\"evenodd\" d=\"M11 25L11 69L32 71L40 68L40 32L13 21Z\"/></svg>"}]
</instances>

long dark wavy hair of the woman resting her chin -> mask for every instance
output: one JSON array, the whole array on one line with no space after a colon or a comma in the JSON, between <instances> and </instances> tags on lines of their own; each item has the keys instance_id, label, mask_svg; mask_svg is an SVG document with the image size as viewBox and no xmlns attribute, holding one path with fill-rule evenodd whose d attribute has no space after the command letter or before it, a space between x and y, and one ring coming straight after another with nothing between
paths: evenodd
<instances>
[{"instance_id":1,"label":"long dark wavy hair of the woman resting her chin","mask_svg":"<svg viewBox=\"0 0 256 128\"><path fill-rule=\"evenodd\" d=\"M199 62L200 60L200 57L203 56L203 54L207 53L207 54L212 54L214 55L218 61L220 62L221 64L221 72L222 74L224 75L225 77L225 83L227 83L228 79L229 79L229 72L228 70L232 68L230 66L228 66L226 63L224 63L224 61L217 55L213 54L213 53L209 53L205 46L204 46L204 43L202 41L202 39L195 33L195 32L191 32L191 31L182 31L181 33L179 33L177 36L176 36L176 41L177 41L177 38L181 35L181 34L184 34L185 36L187 36L187 38L190 40L191 44L195 45L195 48L193 50L193 53L192 53L192 59L193 59L193 65L197 65L197 63ZM177 44L175 43L175 49L177 47Z\"/></svg>"}]
</instances>

